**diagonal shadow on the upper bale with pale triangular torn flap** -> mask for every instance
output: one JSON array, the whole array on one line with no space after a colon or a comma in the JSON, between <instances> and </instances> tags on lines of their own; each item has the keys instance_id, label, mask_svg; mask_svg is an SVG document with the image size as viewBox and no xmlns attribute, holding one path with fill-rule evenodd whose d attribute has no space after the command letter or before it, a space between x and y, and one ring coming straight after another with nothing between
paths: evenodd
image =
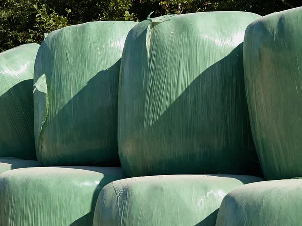
<instances>
[{"instance_id":1,"label":"diagonal shadow on the upper bale with pale triangular torn flap","mask_svg":"<svg viewBox=\"0 0 302 226\"><path fill-rule=\"evenodd\" d=\"M117 149L119 69L120 60L98 72L47 122L44 132L49 132L51 143L45 141L45 149L40 151L40 156L45 157L39 158L44 166L120 166Z\"/></svg>"}]
</instances>

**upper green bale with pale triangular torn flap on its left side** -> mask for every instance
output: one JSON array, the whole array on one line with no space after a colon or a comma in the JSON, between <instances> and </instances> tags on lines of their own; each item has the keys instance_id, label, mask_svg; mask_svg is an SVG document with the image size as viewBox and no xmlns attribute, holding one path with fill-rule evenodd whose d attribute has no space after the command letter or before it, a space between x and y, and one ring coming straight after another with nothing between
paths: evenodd
<instances>
[{"instance_id":1,"label":"upper green bale with pale triangular torn flap on its left side","mask_svg":"<svg viewBox=\"0 0 302 226\"><path fill-rule=\"evenodd\" d=\"M120 58L136 22L89 22L51 32L35 62L38 160L44 166L119 165Z\"/></svg>"}]
</instances>

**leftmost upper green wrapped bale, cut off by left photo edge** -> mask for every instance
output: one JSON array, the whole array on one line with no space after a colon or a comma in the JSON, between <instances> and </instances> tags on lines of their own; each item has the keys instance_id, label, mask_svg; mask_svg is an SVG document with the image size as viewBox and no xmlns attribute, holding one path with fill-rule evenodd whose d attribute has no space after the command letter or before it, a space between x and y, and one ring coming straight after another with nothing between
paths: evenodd
<instances>
[{"instance_id":1,"label":"leftmost upper green wrapped bale, cut off by left photo edge","mask_svg":"<svg viewBox=\"0 0 302 226\"><path fill-rule=\"evenodd\" d=\"M38 44L0 53L0 157L35 160L33 77Z\"/></svg>"}]
</instances>

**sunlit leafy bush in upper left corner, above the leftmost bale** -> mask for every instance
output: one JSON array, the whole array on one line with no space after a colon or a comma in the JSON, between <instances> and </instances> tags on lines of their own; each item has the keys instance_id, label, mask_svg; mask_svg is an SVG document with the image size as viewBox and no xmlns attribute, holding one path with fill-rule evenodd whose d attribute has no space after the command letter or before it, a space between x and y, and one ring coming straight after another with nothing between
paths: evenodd
<instances>
[{"instance_id":1,"label":"sunlit leafy bush in upper left corner, above the leftmost bale","mask_svg":"<svg viewBox=\"0 0 302 226\"><path fill-rule=\"evenodd\" d=\"M48 13L52 11L52 13ZM67 10L67 9L66 9ZM31 0L5 0L0 3L0 51L25 43L41 43L44 33L69 25L67 16L60 16L46 4Z\"/></svg>"}]
</instances>

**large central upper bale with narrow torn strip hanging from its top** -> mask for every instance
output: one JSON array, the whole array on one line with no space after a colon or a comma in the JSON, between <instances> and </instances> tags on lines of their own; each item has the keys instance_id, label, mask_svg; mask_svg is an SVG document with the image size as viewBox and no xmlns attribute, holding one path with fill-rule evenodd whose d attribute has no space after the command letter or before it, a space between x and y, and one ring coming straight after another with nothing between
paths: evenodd
<instances>
[{"instance_id":1,"label":"large central upper bale with narrow torn strip hanging from its top","mask_svg":"<svg viewBox=\"0 0 302 226\"><path fill-rule=\"evenodd\" d=\"M259 15L152 18L128 34L121 62L119 156L128 177L246 174L249 128L242 42Z\"/></svg>"}]
</instances>

